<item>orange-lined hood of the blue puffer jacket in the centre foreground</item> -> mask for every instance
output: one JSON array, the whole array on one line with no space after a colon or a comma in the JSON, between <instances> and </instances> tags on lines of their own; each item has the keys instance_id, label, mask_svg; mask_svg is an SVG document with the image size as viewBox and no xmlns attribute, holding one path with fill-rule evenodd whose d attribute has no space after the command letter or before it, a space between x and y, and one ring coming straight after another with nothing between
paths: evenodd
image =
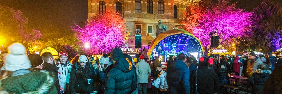
<instances>
[{"instance_id":1,"label":"orange-lined hood of the blue puffer jacket in the centre foreground","mask_svg":"<svg viewBox=\"0 0 282 94\"><path fill-rule=\"evenodd\" d=\"M123 71L123 72L129 72L131 71L133 68L133 65L131 62L128 62L125 58L120 58L119 60L117 60L115 62L115 68Z\"/></svg>"}]
</instances>

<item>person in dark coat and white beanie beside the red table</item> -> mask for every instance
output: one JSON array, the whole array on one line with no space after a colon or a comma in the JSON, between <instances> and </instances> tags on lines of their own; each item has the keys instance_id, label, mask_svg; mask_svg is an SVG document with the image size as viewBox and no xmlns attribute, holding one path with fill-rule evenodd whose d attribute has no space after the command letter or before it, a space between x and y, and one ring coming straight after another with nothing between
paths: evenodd
<instances>
[{"instance_id":1,"label":"person in dark coat and white beanie beside the red table","mask_svg":"<svg viewBox=\"0 0 282 94\"><path fill-rule=\"evenodd\" d=\"M228 84L228 72L225 69L224 65L220 66L220 69L217 72L217 76L220 84Z\"/></svg>"}]
</instances>

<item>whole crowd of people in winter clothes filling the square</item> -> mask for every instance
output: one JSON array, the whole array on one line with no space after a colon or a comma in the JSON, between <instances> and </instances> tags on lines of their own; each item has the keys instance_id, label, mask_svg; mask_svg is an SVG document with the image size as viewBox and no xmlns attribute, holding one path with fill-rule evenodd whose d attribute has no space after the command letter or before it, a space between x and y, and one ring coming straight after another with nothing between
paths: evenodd
<instances>
[{"instance_id":1,"label":"whole crowd of people in winter clothes filling the square","mask_svg":"<svg viewBox=\"0 0 282 94\"><path fill-rule=\"evenodd\" d=\"M163 68L158 57L148 61L115 48L100 58L80 55L69 59L61 51L56 63L51 53L26 54L20 43L2 51L0 94L147 94L148 77L154 93L214 94L229 84L229 74L249 77L254 94L281 93L282 56L213 56L178 54ZM69 61L70 60L70 61ZM224 88L223 88L224 89Z\"/></svg>"}]
</instances>

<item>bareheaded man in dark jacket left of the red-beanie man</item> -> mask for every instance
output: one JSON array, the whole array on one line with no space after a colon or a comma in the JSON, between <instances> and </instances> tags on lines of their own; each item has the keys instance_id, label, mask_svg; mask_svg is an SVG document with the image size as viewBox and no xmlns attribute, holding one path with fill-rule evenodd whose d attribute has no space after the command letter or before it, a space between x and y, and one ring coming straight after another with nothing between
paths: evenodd
<instances>
[{"instance_id":1,"label":"bareheaded man in dark jacket left of the red-beanie man","mask_svg":"<svg viewBox=\"0 0 282 94\"><path fill-rule=\"evenodd\" d=\"M51 72L55 75L55 85L56 85L58 93L60 94L61 90L60 90L60 84L59 84L59 79L58 79L59 67L56 67L54 65L55 60L54 60L53 55L50 52L45 52L45 53L41 54L41 57L44 61L42 70L46 70L46 71Z\"/></svg>"}]
</instances>

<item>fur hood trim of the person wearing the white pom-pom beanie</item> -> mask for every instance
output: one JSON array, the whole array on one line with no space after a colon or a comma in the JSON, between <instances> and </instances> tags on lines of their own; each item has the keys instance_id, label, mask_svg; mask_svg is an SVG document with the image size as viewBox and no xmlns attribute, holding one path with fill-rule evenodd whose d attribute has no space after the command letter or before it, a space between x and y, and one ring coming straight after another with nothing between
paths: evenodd
<instances>
[{"instance_id":1,"label":"fur hood trim of the person wearing the white pom-pom beanie","mask_svg":"<svg viewBox=\"0 0 282 94\"><path fill-rule=\"evenodd\" d=\"M47 75L47 79L46 81L43 82L42 86L36 88L35 91L29 91L29 92L22 93L22 94L48 94L49 93L49 90L52 88L52 86L55 83L54 75L45 70L40 70L40 72L43 72ZM1 86L1 81L0 81L0 86ZM16 94L16 93L8 92L6 90L3 90L3 88L0 87L0 94Z\"/></svg>"}]
</instances>

